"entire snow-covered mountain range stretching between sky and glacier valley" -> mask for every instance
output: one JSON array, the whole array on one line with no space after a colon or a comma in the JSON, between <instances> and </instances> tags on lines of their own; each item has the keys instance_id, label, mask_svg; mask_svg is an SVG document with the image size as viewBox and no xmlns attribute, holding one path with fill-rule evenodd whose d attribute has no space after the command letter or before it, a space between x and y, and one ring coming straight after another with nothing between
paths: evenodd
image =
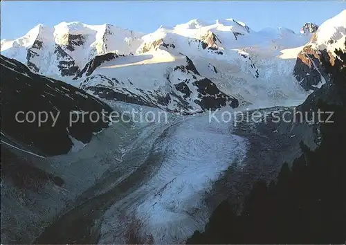
<instances>
[{"instance_id":1,"label":"entire snow-covered mountain range stretching between sky and glacier valley","mask_svg":"<svg viewBox=\"0 0 346 245\"><path fill-rule=\"evenodd\" d=\"M307 23L304 32L294 33L282 27L254 31L235 19L192 19L147 35L110 24L62 22L1 40L1 53L107 100L187 114L266 107L304 100L300 85L307 91L319 86L320 80L311 86L313 75L303 81L309 72L299 71L294 60L307 43L322 49L342 44L343 20L345 11L320 28Z\"/></svg>"}]
</instances>

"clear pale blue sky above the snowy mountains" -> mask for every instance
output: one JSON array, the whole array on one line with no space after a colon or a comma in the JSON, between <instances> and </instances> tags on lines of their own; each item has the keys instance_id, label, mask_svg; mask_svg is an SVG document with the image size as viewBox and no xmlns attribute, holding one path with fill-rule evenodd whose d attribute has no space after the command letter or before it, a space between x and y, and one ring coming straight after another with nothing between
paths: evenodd
<instances>
[{"instance_id":1,"label":"clear pale blue sky above the snowy mountains","mask_svg":"<svg viewBox=\"0 0 346 245\"><path fill-rule=\"evenodd\" d=\"M253 30L284 26L295 32L305 22L323 21L346 9L346 1L1 1L1 39L26 34L37 24L62 21L109 23L151 33L190 19L233 18Z\"/></svg>"}]
</instances>

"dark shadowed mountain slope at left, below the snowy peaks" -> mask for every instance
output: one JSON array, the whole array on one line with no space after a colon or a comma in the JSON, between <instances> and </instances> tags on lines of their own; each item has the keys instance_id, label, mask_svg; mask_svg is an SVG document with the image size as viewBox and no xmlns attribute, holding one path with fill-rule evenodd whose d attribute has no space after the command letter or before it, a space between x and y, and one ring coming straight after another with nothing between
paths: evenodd
<instances>
[{"instance_id":1,"label":"dark shadowed mountain slope at left, below the snowy peaks","mask_svg":"<svg viewBox=\"0 0 346 245\"><path fill-rule=\"evenodd\" d=\"M107 118L93 123L89 114L76 123L73 111L98 114L111 108L64 82L32 73L24 64L1 55L1 143L26 149L42 156L66 154L73 141L89 143L94 133L108 127ZM19 111L23 113L17 114ZM33 123L25 120L25 114ZM46 112L45 123L38 125L39 112ZM17 115L17 119L16 119ZM54 118L57 118L55 121ZM95 117L94 117L95 118ZM46 117L42 114L42 120ZM23 123L20 123L19 120ZM92 119L95 120L95 119ZM73 140L75 138L75 140Z\"/></svg>"}]
</instances>

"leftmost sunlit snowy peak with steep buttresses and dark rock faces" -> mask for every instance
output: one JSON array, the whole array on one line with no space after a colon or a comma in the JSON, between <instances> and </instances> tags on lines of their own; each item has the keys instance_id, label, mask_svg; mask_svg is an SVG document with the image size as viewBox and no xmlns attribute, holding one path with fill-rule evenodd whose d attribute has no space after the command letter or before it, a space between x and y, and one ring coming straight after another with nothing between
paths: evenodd
<instances>
[{"instance_id":1,"label":"leftmost sunlit snowy peak with steep buttresses and dark rock faces","mask_svg":"<svg viewBox=\"0 0 346 245\"><path fill-rule=\"evenodd\" d=\"M35 73L71 76L95 55L135 53L143 34L112 26L62 22L39 24L23 37L1 40L1 54L15 58Z\"/></svg>"}]
</instances>

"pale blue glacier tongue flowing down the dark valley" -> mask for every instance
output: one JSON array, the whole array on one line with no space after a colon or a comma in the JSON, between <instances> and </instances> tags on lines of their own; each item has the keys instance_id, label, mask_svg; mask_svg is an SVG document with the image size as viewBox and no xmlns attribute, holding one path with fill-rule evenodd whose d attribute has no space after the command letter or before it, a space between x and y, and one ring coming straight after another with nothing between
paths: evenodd
<instances>
[{"instance_id":1,"label":"pale blue glacier tongue flowing down the dark valley","mask_svg":"<svg viewBox=\"0 0 346 245\"><path fill-rule=\"evenodd\" d=\"M129 233L145 243L178 244L203 228L209 212L203 197L230 165L242 166L246 140L201 115L169 127L152 152L149 180L104 213L100 244L131 243Z\"/></svg>"}]
</instances>

